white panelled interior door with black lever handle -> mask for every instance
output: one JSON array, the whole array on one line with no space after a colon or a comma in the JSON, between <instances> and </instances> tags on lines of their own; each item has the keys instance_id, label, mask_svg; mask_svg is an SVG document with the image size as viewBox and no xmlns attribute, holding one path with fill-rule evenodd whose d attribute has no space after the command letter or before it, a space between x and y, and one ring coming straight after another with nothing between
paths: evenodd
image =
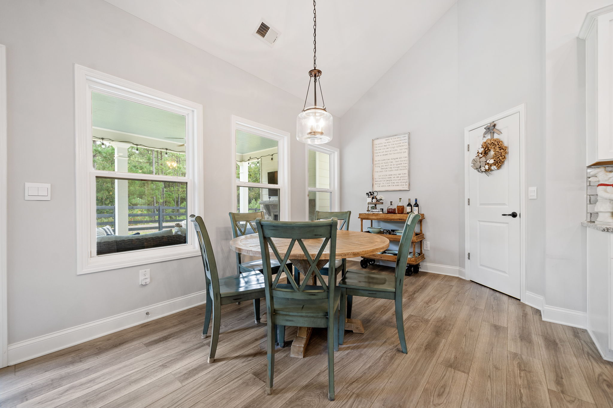
<instances>
[{"instance_id":1,"label":"white panelled interior door with black lever handle","mask_svg":"<svg viewBox=\"0 0 613 408\"><path fill-rule=\"evenodd\" d=\"M513 297L520 296L519 113L495 121L509 153L500 169L481 174L470 169L468 184L468 278ZM468 133L470 160L485 140L484 128ZM489 133L487 138L489 138ZM467 164L470 166L470 162ZM512 214L517 213L517 217Z\"/></svg>"}]
</instances>

